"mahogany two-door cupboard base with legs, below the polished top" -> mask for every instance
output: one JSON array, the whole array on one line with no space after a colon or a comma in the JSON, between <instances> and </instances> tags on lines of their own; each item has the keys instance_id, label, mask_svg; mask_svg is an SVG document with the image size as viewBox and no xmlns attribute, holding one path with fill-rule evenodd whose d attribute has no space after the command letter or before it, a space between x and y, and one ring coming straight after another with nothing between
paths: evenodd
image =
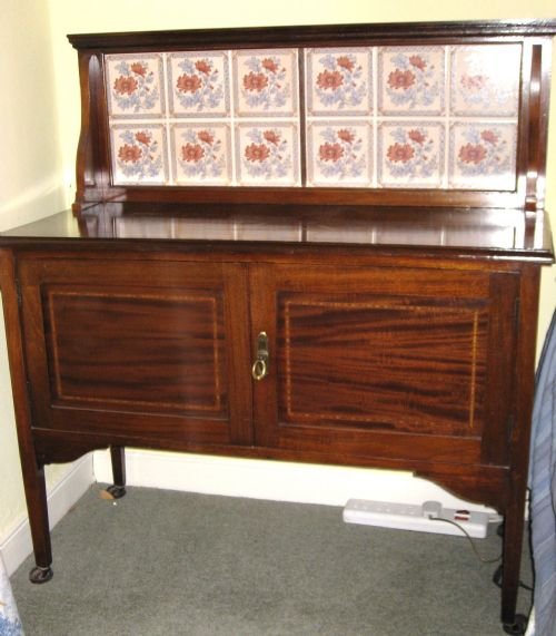
<instances>
[{"instance_id":1,"label":"mahogany two-door cupboard base with legs, below the polished top","mask_svg":"<svg viewBox=\"0 0 556 636\"><path fill-rule=\"evenodd\" d=\"M111 447L120 493L146 447L413 470L494 506L515 611L542 254L212 247L3 238L32 578L42 467Z\"/></svg>"}]
</instances>

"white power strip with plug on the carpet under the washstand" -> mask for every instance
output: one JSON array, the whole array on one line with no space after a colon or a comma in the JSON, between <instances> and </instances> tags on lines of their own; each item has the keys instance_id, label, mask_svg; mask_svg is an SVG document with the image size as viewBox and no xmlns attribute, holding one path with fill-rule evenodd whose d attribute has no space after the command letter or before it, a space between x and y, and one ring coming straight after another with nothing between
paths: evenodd
<instances>
[{"instance_id":1,"label":"white power strip with plug on the carpet under the washstand","mask_svg":"<svg viewBox=\"0 0 556 636\"><path fill-rule=\"evenodd\" d=\"M439 535L464 536L460 526L470 537L487 536L489 516L474 510L443 508L439 501L425 501L423 506L350 499L344 508L344 521L365 526L381 526L399 530L418 530Z\"/></svg>"}]
</instances>

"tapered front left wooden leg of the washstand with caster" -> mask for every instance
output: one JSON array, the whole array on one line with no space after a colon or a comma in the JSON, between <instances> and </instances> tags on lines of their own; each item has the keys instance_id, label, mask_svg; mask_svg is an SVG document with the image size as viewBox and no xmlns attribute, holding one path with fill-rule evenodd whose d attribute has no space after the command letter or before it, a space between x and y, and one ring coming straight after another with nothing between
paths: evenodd
<instances>
[{"instance_id":1,"label":"tapered front left wooden leg of the washstand with caster","mask_svg":"<svg viewBox=\"0 0 556 636\"><path fill-rule=\"evenodd\" d=\"M33 462L34 463L34 462ZM50 527L48 521L47 487L44 482L44 468L37 467L23 469L29 525L33 544L34 568L29 573L31 583L47 583L53 576L52 547L50 544Z\"/></svg>"}]
</instances>

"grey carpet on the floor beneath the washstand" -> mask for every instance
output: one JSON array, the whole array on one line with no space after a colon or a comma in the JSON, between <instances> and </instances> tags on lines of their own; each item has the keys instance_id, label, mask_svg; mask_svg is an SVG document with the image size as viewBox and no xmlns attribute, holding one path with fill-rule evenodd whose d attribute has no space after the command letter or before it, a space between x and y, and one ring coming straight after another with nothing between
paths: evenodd
<instances>
[{"instance_id":1,"label":"grey carpet on the floor beneath the washstand","mask_svg":"<svg viewBox=\"0 0 556 636\"><path fill-rule=\"evenodd\" d=\"M463 538L345 525L332 507L100 490L54 529L50 583L28 583L30 558L12 577L27 636L503 634L496 565ZM495 532L477 545L500 550Z\"/></svg>"}]
</instances>

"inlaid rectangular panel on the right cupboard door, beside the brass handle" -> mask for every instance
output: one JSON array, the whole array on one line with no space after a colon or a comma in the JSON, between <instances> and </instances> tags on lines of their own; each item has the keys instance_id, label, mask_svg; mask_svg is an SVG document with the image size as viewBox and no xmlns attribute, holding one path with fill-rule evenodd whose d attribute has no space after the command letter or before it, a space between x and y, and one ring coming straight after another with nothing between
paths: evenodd
<instances>
[{"instance_id":1,"label":"inlaid rectangular panel on the right cupboard door, beside the brass handle","mask_svg":"<svg viewBox=\"0 0 556 636\"><path fill-rule=\"evenodd\" d=\"M480 432L485 312L299 299L282 315L282 425Z\"/></svg>"}]
</instances>

